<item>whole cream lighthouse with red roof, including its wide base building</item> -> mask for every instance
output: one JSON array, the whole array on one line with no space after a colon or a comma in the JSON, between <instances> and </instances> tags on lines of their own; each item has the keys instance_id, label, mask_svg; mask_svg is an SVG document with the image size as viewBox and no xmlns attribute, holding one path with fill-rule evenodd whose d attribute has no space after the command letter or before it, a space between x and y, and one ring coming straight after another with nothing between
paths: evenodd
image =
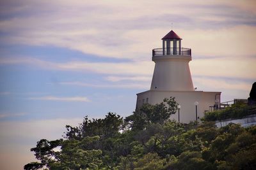
<instances>
[{"instance_id":1,"label":"whole cream lighthouse with red roof, including its wide base building","mask_svg":"<svg viewBox=\"0 0 256 170\"><path fill-rule=\"evenodd\" d=\"M182 38L174 31L162 38L162 48L152 50L155 62L150 90L137 94L136 108L144 103L157 104L164 98L175 97L179 115L170 118L188 123L204 117L206 111L220 106L221 92L204 92L194 89L189 62L191 48L182 47Z\"/></svg>"}]
</instances>

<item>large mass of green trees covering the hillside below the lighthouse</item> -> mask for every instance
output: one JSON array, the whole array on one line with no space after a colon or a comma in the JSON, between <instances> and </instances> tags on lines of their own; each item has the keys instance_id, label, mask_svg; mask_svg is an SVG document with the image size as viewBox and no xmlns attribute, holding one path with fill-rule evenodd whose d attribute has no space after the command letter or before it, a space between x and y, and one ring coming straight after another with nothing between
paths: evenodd
<instances>
[{"instance_id":1,"label":"large mass of green trees covering the hillside below the lighthouse","mask_svg":"<svg viewBox=\"0 0 256 170\"><path fill-rule=\"evenodd\" d=\"M115 113L67 126L64 139L41 139L40 162L24 169L256 169L256 126L180 124L174 98L145 104L125 121Z\"/></svg>"}]
</instances>

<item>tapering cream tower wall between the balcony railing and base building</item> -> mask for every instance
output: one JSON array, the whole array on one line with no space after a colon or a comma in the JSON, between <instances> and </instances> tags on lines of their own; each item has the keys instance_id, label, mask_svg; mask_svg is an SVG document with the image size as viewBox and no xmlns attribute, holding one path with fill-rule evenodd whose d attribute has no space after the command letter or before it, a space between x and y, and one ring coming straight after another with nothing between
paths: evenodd
<instances>
[{"instance_id":1,"label":"tapering cream tower wall between the balcony railing and base building","mask_svg":"<svg viewBox=\"0 0 256 170\"><path fill-rule=\"evenodd\" d=\"M152 58L156 62L150 90L193 91L189 69L191 56L161 55Z\"/></svg>"}]
</instances>

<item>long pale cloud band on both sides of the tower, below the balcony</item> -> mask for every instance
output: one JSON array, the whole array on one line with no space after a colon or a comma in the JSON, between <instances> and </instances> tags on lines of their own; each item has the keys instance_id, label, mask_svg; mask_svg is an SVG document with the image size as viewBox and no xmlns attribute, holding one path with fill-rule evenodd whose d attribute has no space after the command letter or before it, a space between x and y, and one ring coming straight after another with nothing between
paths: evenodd
<instances>
[{"instance_id":1,"label":"long pale cloud band on both sides of the tower, below the balcony","mask_svg":"<svg viewBox=\"0 0 256 170\"><path fill-rule=\"evenodd\" d=\"M191 73L197 76L220 76L230 78L256 77L255 57L203 57L193 59L189 62ZM108 81L141 81L150 80L154 71L154 62L134 61L134 62L49 62L29 57L20 58L0 58L0 64L28 64L41 67L42 69L61 71L81 71L99 74L109 74ZM202 71L204 70L204 71ZM118 76L115 76L118 75Z\"/></svg>"}]
</instances>

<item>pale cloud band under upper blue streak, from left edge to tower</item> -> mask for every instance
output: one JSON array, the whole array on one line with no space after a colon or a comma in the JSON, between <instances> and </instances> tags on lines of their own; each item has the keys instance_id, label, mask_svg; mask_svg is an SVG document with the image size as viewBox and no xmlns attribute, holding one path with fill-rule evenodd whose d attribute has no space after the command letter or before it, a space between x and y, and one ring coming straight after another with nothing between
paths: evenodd
<instances>
[{"instance_id":1,"label":"pale cloud band under upper blue streak, from left edge to tower","mask_svg":"<svg viewBox=\"0 0 256 170\"><path fill-rule=\"evenodd\" d=\"M42 69L62 70L62 71L90 71L100 74L127 74L127 75L150 75L153 71L153 62L50 62L32 57L9 57L0 58L0 64L26 64L41 67Z\"/></svg>"}]
</instances>

